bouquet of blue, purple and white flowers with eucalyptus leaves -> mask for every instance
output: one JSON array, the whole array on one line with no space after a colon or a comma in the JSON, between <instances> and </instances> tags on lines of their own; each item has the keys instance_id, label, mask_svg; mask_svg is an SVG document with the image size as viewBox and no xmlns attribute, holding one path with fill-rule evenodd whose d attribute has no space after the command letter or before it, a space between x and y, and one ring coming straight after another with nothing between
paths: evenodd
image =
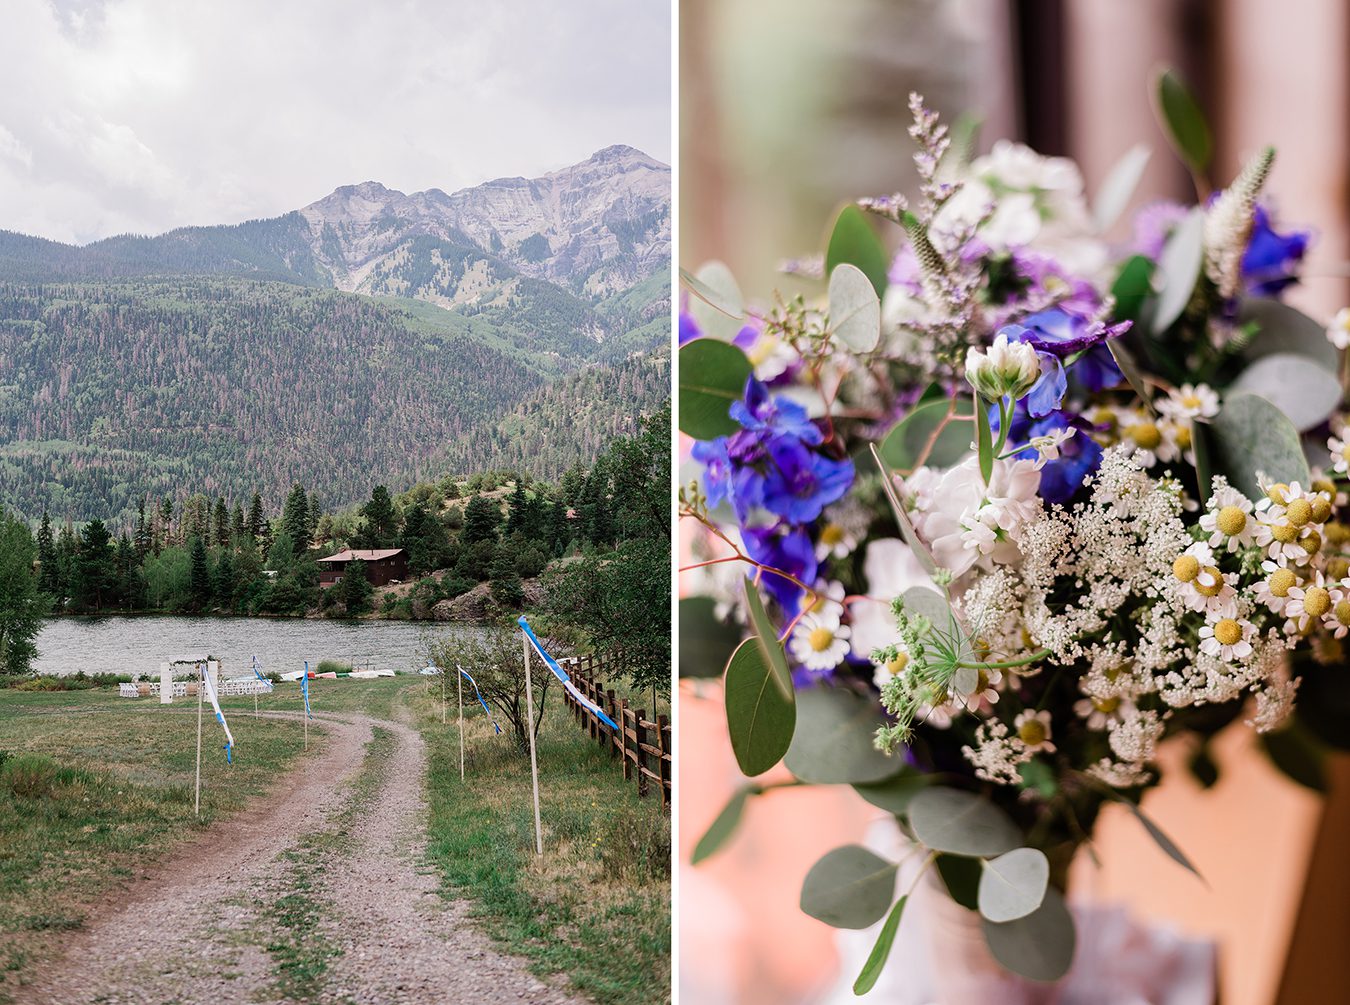
<instances>
[{"instance_id":1,"label":"bouquet of blue, purple and white flowers with eucalyptus leaves","mask_svg":"<svg viewBox=\"0 0 1350 1005\"><path fill-rule=\"evenodd\" d=\"M913 96L918 196L845 207L824 258L786 266L801 292L748 309L725 266L684 276L680 513L706 532L682 634L749 635L725 662L738 765L894 813L992 959L1042 982L1073 959L1068 865L1103 805L1191 867L1139 810L1160 743L1189 738L1212 782L1208 740L1242 720L1316 785L1346 740L1350 312L1281 300L1310 234L1264 197L1274 151L1210 190L1170 73L1156 107L1199 199L1138 209L1123 243L1103 234L1146 151L1089 207L1072 162L971 159ZM896 869L849 846L805 878L809 914L886 919L857 993L914 889Z\"/></svg>"}]
</instances>

